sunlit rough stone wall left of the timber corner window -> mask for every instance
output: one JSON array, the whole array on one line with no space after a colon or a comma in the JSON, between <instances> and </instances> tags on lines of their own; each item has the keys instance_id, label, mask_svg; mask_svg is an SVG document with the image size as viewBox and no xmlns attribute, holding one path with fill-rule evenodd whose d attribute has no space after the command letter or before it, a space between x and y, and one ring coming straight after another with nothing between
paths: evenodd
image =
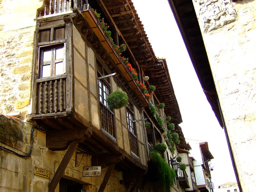
<instances>
[{"instance_id":1,"label":"sunlit rough stone wall left of the timber corner window","mask_svg":"<svg viewBox=\"0 0 256 192\"><path fill-rule=\"evenodd\" d=\"M0 113L21 112L21 119L31 111L34 18L41 5L0 1Z\"/></svg>"}]
</instances>

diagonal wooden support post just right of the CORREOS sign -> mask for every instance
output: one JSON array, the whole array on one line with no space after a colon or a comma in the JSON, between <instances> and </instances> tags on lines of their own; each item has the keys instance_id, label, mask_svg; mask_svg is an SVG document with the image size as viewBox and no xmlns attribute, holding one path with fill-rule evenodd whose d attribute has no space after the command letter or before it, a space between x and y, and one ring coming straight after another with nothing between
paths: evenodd
<instances>
[{"instance_id":1,"label":"diagonal wooden support post just right of the CORREOS sign","mask_svg":"<svg viewBox=\"0 0 256 192\"><path fill-rule=\"evenodd\" d=\"M65 169L68 166L68 163L69 163L73 153L75 152L76 147L78 146L79 142L80 142L80 140L78 140L78 139L74 140L68 147L68 150L67 150L66 154L64 155L62 161L60 162L60 165L59 165L57 171L55 172L55 174L52 178L52 181L49 185L49 192L54 192L54 190L57 187L58 183L60 182L60 179L63 176Z\"/></svg>"}]
</instances>

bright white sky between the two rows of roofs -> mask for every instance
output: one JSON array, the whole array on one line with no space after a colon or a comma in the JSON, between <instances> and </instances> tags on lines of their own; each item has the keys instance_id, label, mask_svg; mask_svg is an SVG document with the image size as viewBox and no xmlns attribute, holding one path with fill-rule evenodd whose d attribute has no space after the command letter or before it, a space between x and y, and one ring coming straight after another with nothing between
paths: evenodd
<instances>
[{"instance_id":1,"label":"bright white sky between the two rows of roofs","mask_svg":"<svg viewBox=\"0 0 256 192\"><path fill-rule=\"evenodd\" d=\"M198 81L167 0L132 0L156 57L166 58L187 142L207 141L214 191L236 181L224 130L220 127ZM191 140L190 140L191 139ZM198 141L198 142L200 142ZM192 149L193 150L193 149Z\"/></svg>"}]
</instances>

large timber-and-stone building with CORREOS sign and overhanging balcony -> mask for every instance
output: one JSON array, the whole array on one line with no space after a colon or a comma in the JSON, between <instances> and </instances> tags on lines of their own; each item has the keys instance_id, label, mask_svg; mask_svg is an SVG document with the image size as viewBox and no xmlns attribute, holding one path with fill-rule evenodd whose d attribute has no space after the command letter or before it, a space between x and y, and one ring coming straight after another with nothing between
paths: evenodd
<instances>
[{"instance_id":1,"label":"large timber-and-stone building with CORREOS sign and overhanging balcony","mask_svg":"<svg viewBox=\"0 0 256 192\"><path fill-rule=\"evenodd\" d=\"M186 141L166 61L156 58L132 2L4 0L0 20L0 190L152 191L149 151L165 142L170 163ZM126 44L131 65L114 42ZM148 96L141 87L151 83L158 89ZM129 103L111 110L106 97L116 90ZM166 139L167 116L176 146ZM101 176L84 177L87 166L101 166ZM173 189L184 191L179 182Z\"/></svg>"}]
</instances>

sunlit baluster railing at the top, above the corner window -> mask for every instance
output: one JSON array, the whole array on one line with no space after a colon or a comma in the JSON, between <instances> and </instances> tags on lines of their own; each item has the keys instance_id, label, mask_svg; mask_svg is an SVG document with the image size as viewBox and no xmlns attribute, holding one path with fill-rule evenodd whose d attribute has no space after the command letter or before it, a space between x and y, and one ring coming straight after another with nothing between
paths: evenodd
<instances>
[{"instance_id":1,"label":"sunlit baluster railing at the top, above the corner window","mask_svg":"<svg viewBox=\"0 0 256 192\"><path fill-rule=\"evenodd\" d=\"M38 9L38 15L46 16L62 12L68 12L73 9L73 0L44 0L43 6Z\"/></svg>"}]
</instances>

